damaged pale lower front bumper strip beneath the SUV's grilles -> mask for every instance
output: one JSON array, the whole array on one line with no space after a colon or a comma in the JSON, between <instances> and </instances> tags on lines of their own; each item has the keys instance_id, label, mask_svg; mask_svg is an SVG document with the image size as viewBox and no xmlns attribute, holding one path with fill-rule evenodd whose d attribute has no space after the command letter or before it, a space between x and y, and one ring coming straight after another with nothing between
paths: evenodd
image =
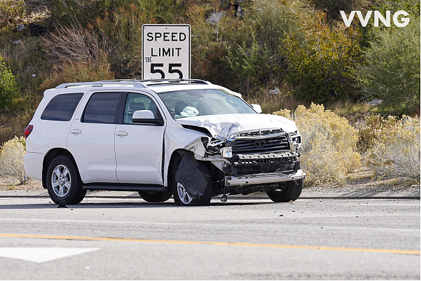
<instances>
[{"instance_id":1,"label":"damaged pale lower front bumper strip beneath the SUV's grilles","mask_svg":"<svg viewBox=\"0 0 421 281\"><path fill-rule=\"evenodd\" d=\"M226 176L226 186L242 186L247 184L271 184L281 181L294 181L297 179L304 179L305 173L303 170L298 170L294 174L267 174L267 175L250 175L242 177Z\"/></svg>"}]
</instances>

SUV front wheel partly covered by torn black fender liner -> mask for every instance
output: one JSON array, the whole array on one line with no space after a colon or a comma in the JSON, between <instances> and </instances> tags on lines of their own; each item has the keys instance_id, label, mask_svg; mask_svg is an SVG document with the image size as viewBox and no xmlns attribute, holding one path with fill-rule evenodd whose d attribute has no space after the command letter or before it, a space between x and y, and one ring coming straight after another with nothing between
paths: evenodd
<instances>
[{"instance_id":1,"label":"SUV front wheel partly covered by torn black fender liner","mask_svg":"<svg viewBox=\"0 0 421 281\"><path fill-rule=\"evenodd\" d=\"M193 199L184 188L182 184L175 180L175 171L177 171L178 165L174 172L172 172L172 195L174 196L174 203L178 206L203 206L209 205L212 198L212 181L209 180L207 183L205 193L200 198Z\"/></svg>"}]
</instances>

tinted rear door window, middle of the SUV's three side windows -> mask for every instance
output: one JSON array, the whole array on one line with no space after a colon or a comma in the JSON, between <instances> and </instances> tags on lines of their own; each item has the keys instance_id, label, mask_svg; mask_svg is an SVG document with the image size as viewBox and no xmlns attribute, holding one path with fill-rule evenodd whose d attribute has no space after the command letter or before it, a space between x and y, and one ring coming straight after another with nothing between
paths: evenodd
<instances>
[{"instance_id":1,"label":"tinted rear door window, middle of the SUV's three side windows","mask_svg":"<svg viewBox=\"0 0 421 281\"><path fill-rule=\"evenodd\" d=\"M97 92L90 97L83 113L85 123L116 123L119 92Z\"/></svg>"}]
</instances>

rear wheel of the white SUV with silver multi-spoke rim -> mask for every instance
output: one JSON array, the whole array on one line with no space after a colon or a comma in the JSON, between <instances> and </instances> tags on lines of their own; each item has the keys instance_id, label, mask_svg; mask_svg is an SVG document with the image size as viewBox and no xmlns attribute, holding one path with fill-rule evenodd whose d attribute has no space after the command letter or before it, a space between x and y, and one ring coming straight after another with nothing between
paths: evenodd
<instances>
[{"instance_id":1,"label":"rear wheel of the white SUV with silver multi-spoke rim","mask_svg":"<svg viewBox=\"0 0 421 281\"><path fill-rule=\"evenodd\" d=\"M80 203L86 190L76 168L76 163L69 156L61 155L51 161L47 170L47 190L51 200L58 204L65 200L66 204Z\"/></svg>"}]
</instances>

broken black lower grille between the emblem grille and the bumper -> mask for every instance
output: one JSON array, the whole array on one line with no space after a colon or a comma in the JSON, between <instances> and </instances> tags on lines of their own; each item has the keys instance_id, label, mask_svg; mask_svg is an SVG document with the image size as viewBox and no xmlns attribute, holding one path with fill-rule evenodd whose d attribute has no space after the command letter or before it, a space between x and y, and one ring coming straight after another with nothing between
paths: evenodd
<instances>
[{"instance_id":1,"label":"broken black lower grille between the emblem grille and the bumper","mask_svg":"<svg viewBox=\"0 0 421 281\"><path fill-rule=\"evenodd\" d=\"M292 153L282 153L261 158L261 156L239 155L233 158L230 173L235 177L256 174L291 174L300 168L300 161Z\"/></svg>"}]
</instances>

